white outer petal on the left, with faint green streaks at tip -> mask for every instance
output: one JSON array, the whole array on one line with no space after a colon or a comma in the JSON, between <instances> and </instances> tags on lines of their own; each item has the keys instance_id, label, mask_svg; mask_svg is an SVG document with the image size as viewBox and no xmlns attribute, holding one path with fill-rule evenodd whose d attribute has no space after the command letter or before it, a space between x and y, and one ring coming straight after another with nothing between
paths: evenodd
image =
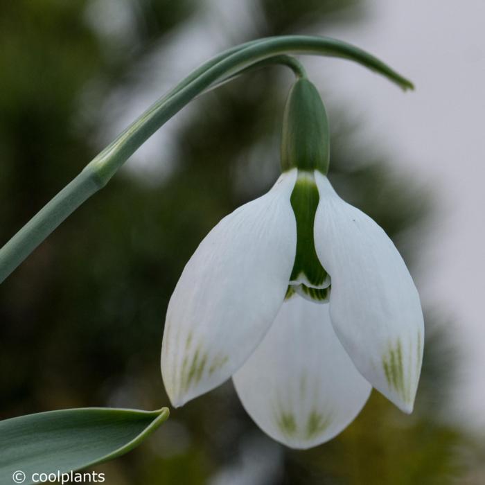
<instances>
[{"instance_id":1,"label":"white outer petal on the left, with faint green streaks at tip","mask_svg":"<svg viewBox=\"0 0 485 485\"><path fill-rule=\"evenodd\" d=\"M283 302L297 228L296 170L223 218L188 261L168 303L161 372L174 406L220 385L261 342Z\"/></svg>"}]
</instances>

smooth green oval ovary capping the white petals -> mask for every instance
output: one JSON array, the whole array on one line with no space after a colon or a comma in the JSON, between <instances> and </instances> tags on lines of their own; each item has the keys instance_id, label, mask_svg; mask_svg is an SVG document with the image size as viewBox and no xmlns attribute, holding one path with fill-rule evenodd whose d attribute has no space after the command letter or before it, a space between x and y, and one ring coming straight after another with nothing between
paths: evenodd
<instances>
[{"instance_id":1,"label":"smooth green oval ovary capping the white petals","mask_svg":"<svg viewBox=\"0 0 485 485\"><path fill-rule=\"evenodd\" d=\"M328 119L317 88L306 78L294 83L283 115L281 168L319 170L326 175L330 161Z\"/></svg>"}]
</instances>

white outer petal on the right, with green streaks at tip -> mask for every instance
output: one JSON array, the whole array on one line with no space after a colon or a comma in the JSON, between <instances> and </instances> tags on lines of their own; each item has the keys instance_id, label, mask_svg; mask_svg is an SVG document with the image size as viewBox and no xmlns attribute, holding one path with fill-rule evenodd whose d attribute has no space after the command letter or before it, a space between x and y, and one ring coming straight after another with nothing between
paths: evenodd
<instances>
[{"instance_id":1,"label":"white outer petal on the right, with green streaks at tip","mask_svg":"<svg viewBox=\"0 0 485 485\"><path fill-rule=\"evenodd\" d=\"M368 215L315 173L320 200L315 249L332 279L335 333L362 375L412 412L423 360L419 295L398 250Z\"/></svg>"}]
</instances>

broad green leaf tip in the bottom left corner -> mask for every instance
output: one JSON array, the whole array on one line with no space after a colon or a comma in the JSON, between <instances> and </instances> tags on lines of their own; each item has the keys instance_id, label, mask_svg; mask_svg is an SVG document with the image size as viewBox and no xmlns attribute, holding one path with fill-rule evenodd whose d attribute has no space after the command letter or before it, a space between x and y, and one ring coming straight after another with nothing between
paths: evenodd
<instances>
[{"instance_id":1,"label":"broad green leaf tip in the bottom left corner","mask_svg":"<svg viewBox=\"0 0 485 485\"><path fill-rule=\"evenodd\" d=\"M138 446L168 418L158 411L89 407L28 414L0 421L0 484L15 472L68 473L108 461Z\"/></svg>"}]
</instances>

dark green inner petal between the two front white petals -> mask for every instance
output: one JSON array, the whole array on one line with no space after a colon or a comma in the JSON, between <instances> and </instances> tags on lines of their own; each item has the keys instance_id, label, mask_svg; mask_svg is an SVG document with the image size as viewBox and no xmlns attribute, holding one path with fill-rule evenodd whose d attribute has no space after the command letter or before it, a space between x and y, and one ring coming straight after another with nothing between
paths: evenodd
<instances>
[{"instance_id":1,"label":"dark green inner petal between the two front white petals","mask_svg":"<svg viewBox=\"0 0 485 485\"><path fill-rule=\"evenodd\" d=\"M329 285L329 277L315 250L313 227L319 194L313 173L298 171L290 202L297 220L297 253L290 281L324 288Z\"/></svg>"}]
</instances>

